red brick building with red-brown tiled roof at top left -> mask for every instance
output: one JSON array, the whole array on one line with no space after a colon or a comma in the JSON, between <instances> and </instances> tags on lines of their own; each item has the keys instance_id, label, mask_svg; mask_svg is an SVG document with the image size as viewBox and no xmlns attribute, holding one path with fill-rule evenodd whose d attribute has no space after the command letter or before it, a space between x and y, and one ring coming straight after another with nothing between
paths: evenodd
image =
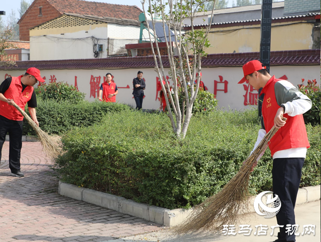
<instances>
[{"instance_id":1,"label":"red brick building with red-brown tiled roof at top left","mask_svg":"<svg viewBox=\"0 0 321 242\"><path fill-rule=\"evenodd\" d=\"M20 40L29 41L29 30L66 14L138 20L136 6L86 2L81 0L35 0L19 20Z\"/></svg>"}]
</instances>

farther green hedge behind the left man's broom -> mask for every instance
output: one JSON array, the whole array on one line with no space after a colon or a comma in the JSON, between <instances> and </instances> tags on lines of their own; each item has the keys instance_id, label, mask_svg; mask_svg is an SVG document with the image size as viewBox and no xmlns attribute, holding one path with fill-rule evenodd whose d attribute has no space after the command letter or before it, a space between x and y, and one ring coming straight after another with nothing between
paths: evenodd
<instances>
[{"instance_id":1,"label":"farther green hedge behind the left man's broom","mask_svg":"<svg viewBox=\"0 0 321 242\"><path fill-rule=\"evenodd\" d=\"M49 134L62 134L75 126L91 126L100 123L106 113L130 109L129 106L124 104L100 101L81 101L77 104L59 103L55 100L43 101L38 99L37 101L38 107L36 112L39 127ZM29 115L27 105L25 111ZM26 120L24 122L23 133L24 135L36 136L35 131Z\"/></svg>"}]
</instances>

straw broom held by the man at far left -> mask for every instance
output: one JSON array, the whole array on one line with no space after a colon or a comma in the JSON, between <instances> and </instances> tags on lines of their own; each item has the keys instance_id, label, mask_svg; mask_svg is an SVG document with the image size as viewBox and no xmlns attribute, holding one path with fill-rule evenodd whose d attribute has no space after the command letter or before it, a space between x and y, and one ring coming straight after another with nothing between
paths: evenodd
<instances>
[{"instance_id":1,"label":"straw broom held by the man at far left","mask_svg":"<svg viewBox=\"0 0 321 242\"><path fill-rule=\"evenodd\" d=\"M13 106L18 109L18 111L27 119L31 127L36 131L37 136L46 154L51 158L56 158L60 154L60 150L58 148L57 143L46 132L42 131L39 127L37 127L37 124L15 102L13 102Z\"/></svg>"}]
</instances>

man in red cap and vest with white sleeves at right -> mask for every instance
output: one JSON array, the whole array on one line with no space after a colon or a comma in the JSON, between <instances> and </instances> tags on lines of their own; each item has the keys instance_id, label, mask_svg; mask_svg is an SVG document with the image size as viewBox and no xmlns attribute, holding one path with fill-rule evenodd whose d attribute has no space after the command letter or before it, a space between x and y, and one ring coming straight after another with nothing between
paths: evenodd
<instances>
[{"instance_id":1,"label":"man in red cap and vest with white sleeves at right","mask_svg":"<svg viewBox=\"0 0 321 242\"><path fill-rule=\"evenodd\" d=\"M301 170L306 149L309 148L302 114L308 111L311 100L299 92L290 82L271 77L259 61L250 61L243 66L244 77L239 84L249 81L259 90L263 88L261 129L254 149L272 128L279 130L270 140L269 148L273 157L273 192L279 196L281 208L276 214L280 227L275 241L295 241L295 233L286 232L287 224L295 224L294 206L298 192ZM281 118L287 118L284 122ZM254 150L253 149L253 150ZM256 166L253 165L251 170Z\"/></svg>"}]
</instances>

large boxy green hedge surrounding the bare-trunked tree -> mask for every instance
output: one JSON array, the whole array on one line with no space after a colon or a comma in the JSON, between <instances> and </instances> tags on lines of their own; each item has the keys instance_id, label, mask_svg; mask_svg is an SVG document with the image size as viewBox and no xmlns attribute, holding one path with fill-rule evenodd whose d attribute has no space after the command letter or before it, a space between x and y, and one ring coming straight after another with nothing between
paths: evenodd
<instances>
[{"instance_id":1,"label":"large boxy green hedge surrounding the bare-trunked tree","mask_svg":"<svg viewBox=\"0 0 321 242\"><path fill-rule=\"evenodd\" d=\"M177 140L165 114L126 110L62 138L55 170L68 183L166 208L190 207L217 193L239 170L260 128L256 111L195 115ZM311 148L302 185L320 184L320 126L307 126ZM250 191L269 190L272 159L265 152Z\"/></svg>"}]
</instances>

